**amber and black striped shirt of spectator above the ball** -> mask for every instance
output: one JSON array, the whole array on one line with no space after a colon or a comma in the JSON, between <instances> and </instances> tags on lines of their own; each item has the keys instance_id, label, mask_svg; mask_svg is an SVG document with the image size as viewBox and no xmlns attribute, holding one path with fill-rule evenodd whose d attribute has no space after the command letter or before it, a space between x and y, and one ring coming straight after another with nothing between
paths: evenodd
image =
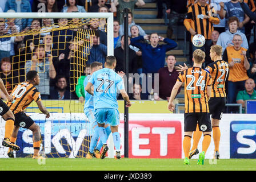
<instances>
[{"instance_id":1,"label":"amber and black striped shirt of spectator above the ball","mask_svg":"<svg viewBox=\"0 0 256 182\"><path fill-rule=\"evenodd\" d=\"M212 12L212 13L210 13ZM213 23L219 24L219 18L213 9L206 3L205 6L201 6L198 2L189 7L187 15L184 19L184 25L189 31L193 28L197 34L205 36L205 39L211 39L211 32L213 32ZM203 15L210 16L210 18L203 18ZM213 16L211 16L213 15ZM192 40L193 36L191 36Z\"/></svg>"}]
</instances>

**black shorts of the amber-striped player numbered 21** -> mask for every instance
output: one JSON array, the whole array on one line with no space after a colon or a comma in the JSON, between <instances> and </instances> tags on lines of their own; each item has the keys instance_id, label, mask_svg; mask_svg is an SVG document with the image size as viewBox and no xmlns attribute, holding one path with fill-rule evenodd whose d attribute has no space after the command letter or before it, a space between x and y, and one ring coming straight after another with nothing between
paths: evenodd
<instances>
[{"instance_id":1,"label":"black shorts of the amber-striped player numbered 21","mask_svg":"<svg viewBox=\"0 0 256 182\"><path fill-rule=\"evenodd\" d=\"M213 119L221 119L223 111L225 110L226 97L211 97L208 105Z\"/></svg>"}]
</instances>

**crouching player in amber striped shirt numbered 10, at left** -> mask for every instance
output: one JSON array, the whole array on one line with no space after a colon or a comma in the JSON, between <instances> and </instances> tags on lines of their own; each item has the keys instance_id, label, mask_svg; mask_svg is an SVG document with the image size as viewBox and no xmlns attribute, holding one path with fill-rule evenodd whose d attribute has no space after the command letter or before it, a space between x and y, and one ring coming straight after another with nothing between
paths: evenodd
<instances>
[{"instance_id":1,"label":"crouching player in amber striped shirt numbered 10, at left","mask_svg":"<svg viewBox=\"0 0 256 182\"><path fill-rule=\"evenodd\" d=\"M10 142L15 143L19 131L19 127L29 129L33 132L33 147L34 155L33 159L42 159L39 156L39 149L41 144L41 131L40 127L27 115L24 113L24 109L35 101L38 105L39 110L43 114L46 114L46 118L50 117L49 111L43 106L41 102L41 96L35 85L39 85L40 77L37 71L29 71L26 75L27 81L18 84L13 89L11 96L13 96L13 102L7 102L7 106L13 111L15 116L13 134L11 134ZM9 148L8 156L14 158L13 150Z\"/></svg>"}]
</instances>

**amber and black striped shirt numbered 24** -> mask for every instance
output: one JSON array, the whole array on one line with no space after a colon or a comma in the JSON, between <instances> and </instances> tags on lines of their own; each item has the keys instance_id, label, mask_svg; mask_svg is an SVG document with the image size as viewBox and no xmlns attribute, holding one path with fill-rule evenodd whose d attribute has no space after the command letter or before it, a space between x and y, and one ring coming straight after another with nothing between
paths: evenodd
<instances>
[{"instance_id":1,"label":"amber and black striped shirt numbered 24","mask_svg":"<svg viewBox=\"0 0 256 182\"><path fill-rule=\"evenodd\" d=\"M192 67L181 72L177 81L184 82L185 113L209 113L207 86L211 86L211 75Z\"/></svg>"}]
</instances>

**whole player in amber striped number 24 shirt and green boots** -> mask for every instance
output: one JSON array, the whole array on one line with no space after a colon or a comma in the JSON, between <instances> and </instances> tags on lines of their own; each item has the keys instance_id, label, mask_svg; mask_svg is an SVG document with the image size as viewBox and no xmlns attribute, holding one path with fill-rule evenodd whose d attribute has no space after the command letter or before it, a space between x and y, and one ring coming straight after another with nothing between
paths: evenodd
<instances>
[{"instance_id":1,"label":"whole player in amber striped number 24 shirt and green boots","mask_svg":"<svg viewBox=\"0 0 256 182\"><path fill-rule=\"evenodd\" d=\"M203 164L205 152L211 142L211 120L209 114L208 101L211 97L211 76L202 69L202 63L205 61L205 52L196 49L193 52L194 65L180 73L176 84L171 92L168 109L174 110L173 100L179 87L184 83L185 88L185 113L183 151L185 155L184 164L189 164L189 150L191 146L191 137L196 130L197 123L199 130L203 131L202 152L199 154L197 164Z\"/></svg>"}]
</instances>

